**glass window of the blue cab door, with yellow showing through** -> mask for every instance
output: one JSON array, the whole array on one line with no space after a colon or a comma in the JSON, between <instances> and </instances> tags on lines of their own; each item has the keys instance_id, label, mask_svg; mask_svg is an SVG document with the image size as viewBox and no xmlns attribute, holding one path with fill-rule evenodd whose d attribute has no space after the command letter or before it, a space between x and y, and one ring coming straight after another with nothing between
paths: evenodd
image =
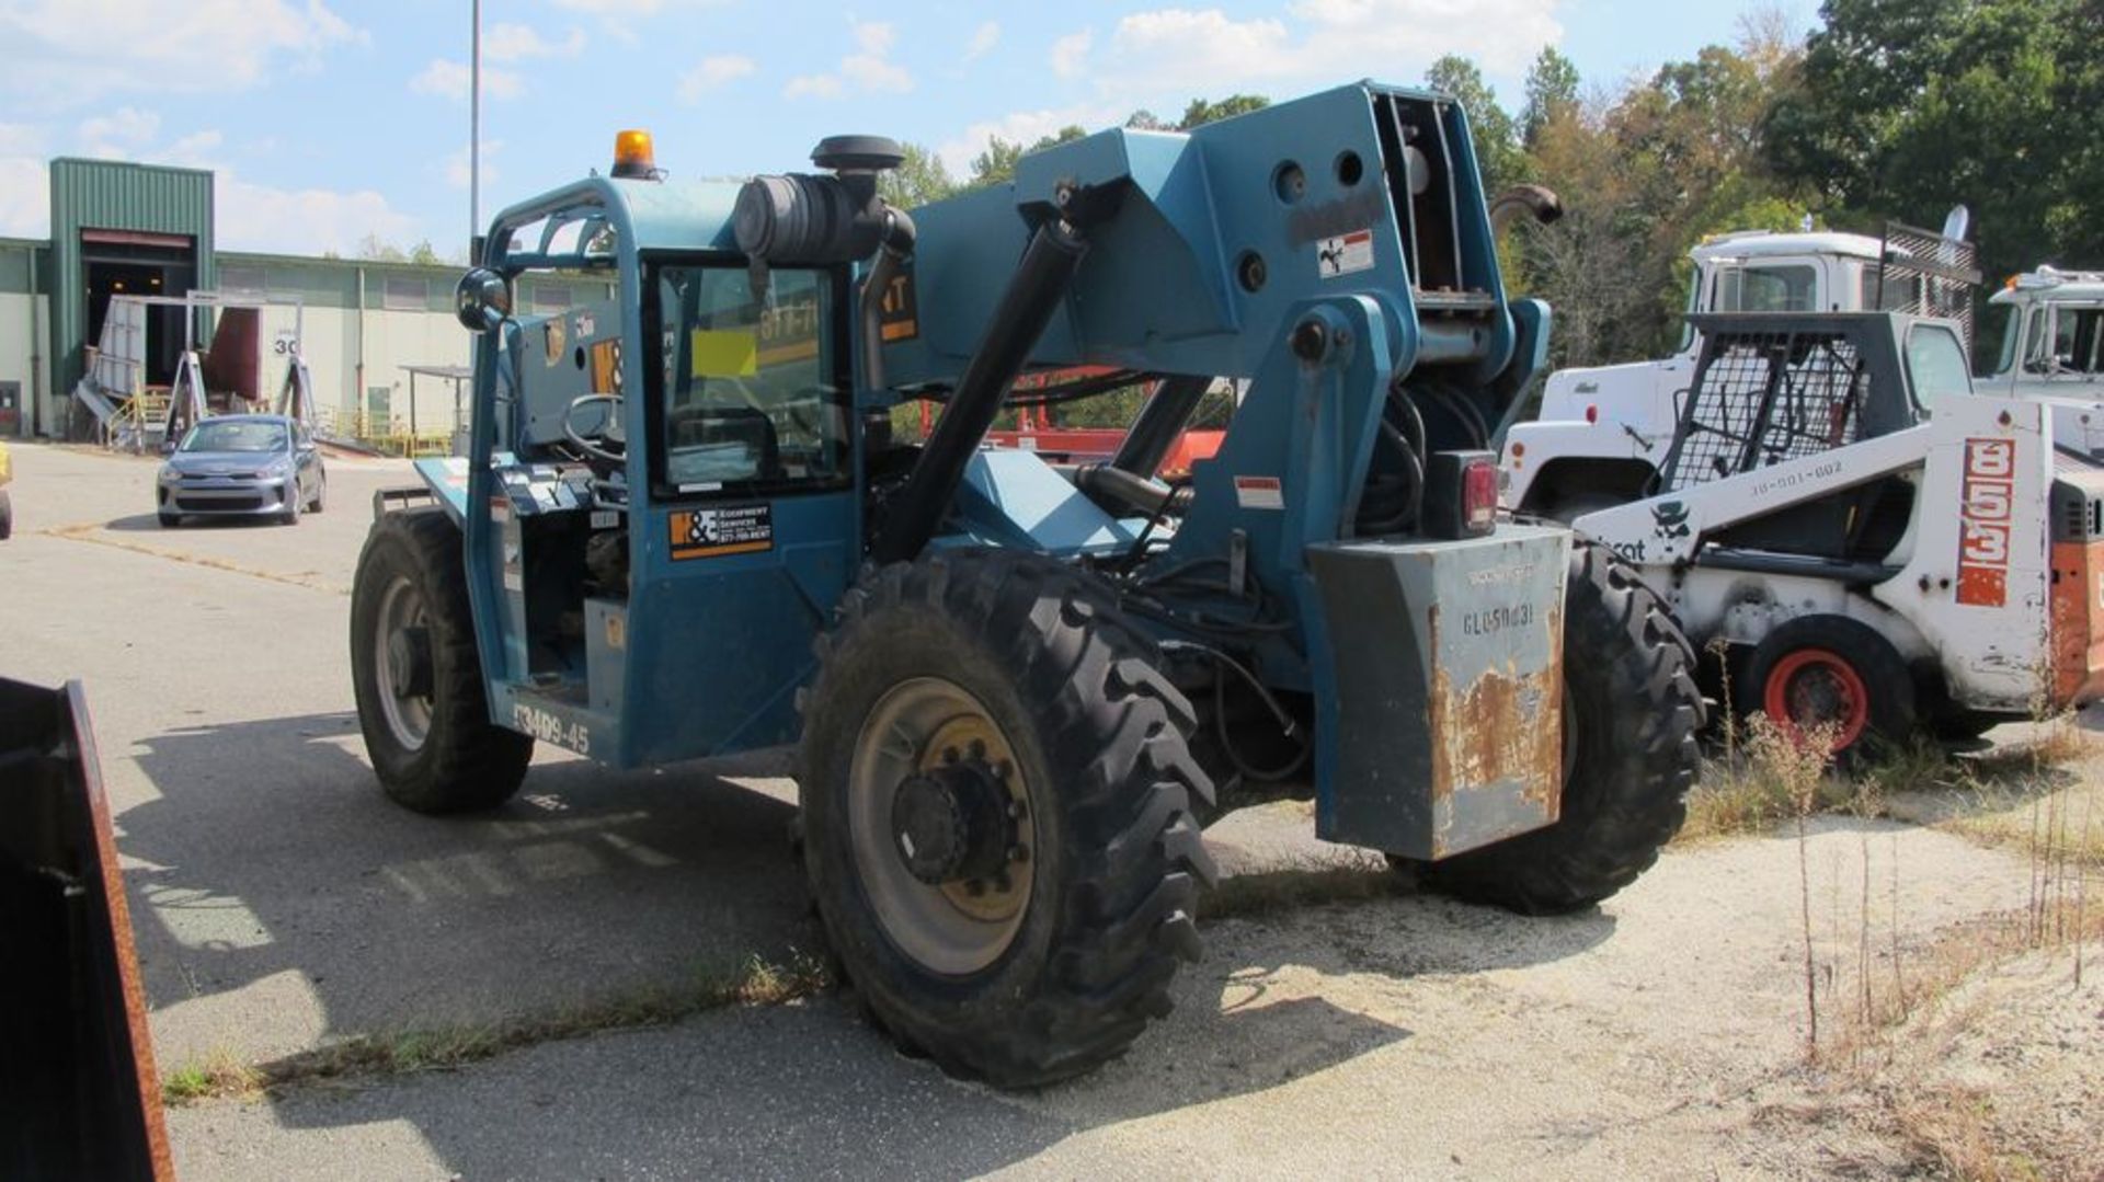
<instances>
[{"instance_id":1,"label":"glass window of the blue cab door, with yellow showing through","mask_svg":"<svg viewBox=\"0 0 2104 1182\"><path fill-rule=\"evenodd\" d=\"M833 381L833 273L665 265L656 471L677 492L848 477L846 391Z\"/></svg>"}]
</instances>

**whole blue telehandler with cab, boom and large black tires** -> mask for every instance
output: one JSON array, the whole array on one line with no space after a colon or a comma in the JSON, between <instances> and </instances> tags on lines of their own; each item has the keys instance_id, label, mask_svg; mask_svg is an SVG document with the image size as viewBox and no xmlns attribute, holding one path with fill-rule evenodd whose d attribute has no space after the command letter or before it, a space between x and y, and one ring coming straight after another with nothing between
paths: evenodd
<instances>
[{"instance_id":1,"label":"whole blue telehandler with cab, boom and large black tires","mask_svg":"<svg viewBox=\"0 0 2104 1182\"><path fill-rule=\"evenodd\" d=\"M623 133L497 215L469 454L377 498L351 597L387 795L499 806L537 742L795 745L839 967L1004 1087L1168 1012L1231 808L1313 799L1319 837L1530 913L1656 860L1694 660L1610 553L1498 515L1549 311L1504 294L1456 103L1107 130L911 212L898 160L686 183ZM1016 400L1130 387L1109 461L985 446ZM1222 387L1218 454L1159 480Z\"/></svg>"}]
</instances>

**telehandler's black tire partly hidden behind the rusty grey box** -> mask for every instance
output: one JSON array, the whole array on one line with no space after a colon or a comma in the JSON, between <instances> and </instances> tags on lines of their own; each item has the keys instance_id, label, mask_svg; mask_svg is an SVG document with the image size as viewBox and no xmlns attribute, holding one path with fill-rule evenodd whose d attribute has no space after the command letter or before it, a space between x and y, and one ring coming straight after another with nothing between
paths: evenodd
<instances>
[{"instance_id":1,"label":"telehandler's black tire partly hidden behind the rusty grey box","mask_svg":"<svg viewBox=\"0 0 2104 1182\"><path fill-rule=\"evenodd\" d=\"M1637 881L1687 818L1702 694L1687 641L1605 547L1572 545L1563 595L1563 806L1549 829L1439 862L1441 894L1523 915L1591 906Z\"/></svg>"}]
</instances>

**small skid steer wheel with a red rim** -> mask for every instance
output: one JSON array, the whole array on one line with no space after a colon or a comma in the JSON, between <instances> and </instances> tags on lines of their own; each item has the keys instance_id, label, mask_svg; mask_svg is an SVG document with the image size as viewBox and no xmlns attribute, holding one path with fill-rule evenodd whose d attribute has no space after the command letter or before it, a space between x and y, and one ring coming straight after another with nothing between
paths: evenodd
<instances>
[{"instance_id":1,"label":"small skid steer wheel with a red rim","mask_svg":"<svg viewBox=\"0 0 2104 1182\"><path fill-rule=\"evenodd\" d=\"M1835 759L1860 761L1879 745L1913 738L1915 677L1870 625L1797 616L1761 637L1734 698L1793 730L1835 724Z\"/></svg>"}]
</instances>

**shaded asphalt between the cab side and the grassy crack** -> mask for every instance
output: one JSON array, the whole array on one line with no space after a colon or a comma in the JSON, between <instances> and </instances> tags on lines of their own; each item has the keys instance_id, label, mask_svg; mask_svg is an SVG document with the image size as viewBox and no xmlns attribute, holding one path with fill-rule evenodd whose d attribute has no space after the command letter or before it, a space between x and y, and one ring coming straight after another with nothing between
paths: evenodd
<instances>
[{"instance_id":1,"label":"shaded asphalt between the cab side and the grassy crack","mask_svg":"<svg viewBox=\"0 0 2104 1182\"><path fill-rule=\"evenodd\" d=\"M120 848L164 1058L490 1022L816 940L791 806L707 766L534 766L505 808L389 803L349 713L145 740ZM173 1054L170 1054L173 1052Z\"/></svg>"}]
</instances>

